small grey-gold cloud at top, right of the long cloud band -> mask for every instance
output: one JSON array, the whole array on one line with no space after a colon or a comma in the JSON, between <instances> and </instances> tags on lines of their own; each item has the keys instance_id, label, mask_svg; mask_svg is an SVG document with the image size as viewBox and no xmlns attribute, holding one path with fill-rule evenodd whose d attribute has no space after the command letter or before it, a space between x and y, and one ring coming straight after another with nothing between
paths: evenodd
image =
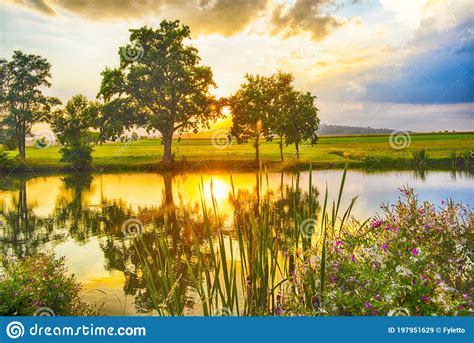
<instances>
[{"instance_id":1,"label":"small grey-gold cloud at top, right of the long cloud band","mask_svg":"<svg viewBox=\"0 0 474 343\"><path fill-rule=\"evenodd\" d=\"M271 17L273 33L283 32L286 36L294 36L309 32L314 40L322 40L345 23L323 13L323 6L331 3L330 0L297 0L292 7L278 5Z\"/></svg>"}]
</instances>

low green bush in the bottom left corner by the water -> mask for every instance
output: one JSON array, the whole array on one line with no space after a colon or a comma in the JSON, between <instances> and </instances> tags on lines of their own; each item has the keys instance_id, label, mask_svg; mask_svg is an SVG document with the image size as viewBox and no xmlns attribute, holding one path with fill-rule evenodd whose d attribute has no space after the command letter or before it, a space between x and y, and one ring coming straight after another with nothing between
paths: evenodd
<instances>
[{"instance_id":1,"label":"low green bush in the bottom left corner by the water","mask_svg":"<svg viewBox=\"0 0 474 343\"><path fill-rule=\"evenodd\" d=\"M64 258L39 254L21 261L4 260L0 279L1 316L31 316L41 307L52 309L58 316L99 312L81 299L81 285L68 275Z\"/></svg>"}]
</instances>

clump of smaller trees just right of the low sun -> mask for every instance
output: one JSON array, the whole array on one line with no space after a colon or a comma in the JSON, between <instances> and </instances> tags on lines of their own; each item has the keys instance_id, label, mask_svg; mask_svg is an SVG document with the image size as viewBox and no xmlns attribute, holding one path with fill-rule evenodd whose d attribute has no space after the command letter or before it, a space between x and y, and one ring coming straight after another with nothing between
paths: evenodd
<instances>
[{"instance_id":1,"label":"clump of smaller trees just right of the low sun","mask_svg":"<svg viewBox=\"0 0 474 343\"><path fill-rule=\"evenodd\" d=\"M280 156L283 160L285 144L299 144L317 140L319 118L314 106L315 96L295 90L294 77L278 72L271 76L246 75L240 89L228 98L232 111L232 135L237 142L254 141L256 160L259 160L261 139L270 141L278 136Z\"/></svg>"}]
</instances>

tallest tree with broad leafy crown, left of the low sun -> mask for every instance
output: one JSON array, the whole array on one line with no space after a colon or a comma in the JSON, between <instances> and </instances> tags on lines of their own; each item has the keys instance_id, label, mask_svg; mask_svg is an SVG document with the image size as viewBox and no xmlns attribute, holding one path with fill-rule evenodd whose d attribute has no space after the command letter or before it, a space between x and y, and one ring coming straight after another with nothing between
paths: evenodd
<instances>
[{"instance_id":1,"label":"tallest tree with broad leafy crown, left of the low sun","mask_svg":"<svg viewBox=\"0 0 474 343\"><path fill-rule=\"evenodd\" d=\"M184 44L190 30L179 21L164 20L156 30L130 32L130 43L120 48L120 66L102 72L102 137L118 137L133 125L159 131L163 162L169 164L175 132L209 128L219 115L210 94L215 87L212 71L199 64L196 48Z\"/></svg>"}]
</instances>

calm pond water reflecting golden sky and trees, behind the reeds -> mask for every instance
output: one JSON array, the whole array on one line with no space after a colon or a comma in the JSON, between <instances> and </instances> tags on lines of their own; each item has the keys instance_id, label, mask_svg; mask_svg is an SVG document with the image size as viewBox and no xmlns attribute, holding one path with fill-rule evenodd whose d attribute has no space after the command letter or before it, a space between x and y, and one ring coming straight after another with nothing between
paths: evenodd
<instances>
[{"instance_id":1,"label":"calm pond water reflecting golden sky and trees, behind the reeds","mask_svg":"<svg viewBox=\"0 0 474 343\"><path fill-rule=\"evenodd\" d=\"M21 258L53 251L66 257L70 272L84 285L84 298L103 304L105 314L153 314L130 230L145 227L144 241L153 249L150 227L183 217L199 227L204 203L208 210L215 211L215 205L220 226L232 232L239 211L236 199L242 203L265 198L283 204L282 199L291 194L307 192L310 178L312 194L317 195L315 208L320 211L326 187L329 199L337 197L342 174L341 170L318 170L311 177L309 172L2 177L0 253ZM399 188L405 185L414 188L421 200L434 204L448 198L469 204L472 181L472 174L463 172L350 170L342 205L357 196L352 214L362 221L377 213L382 203L396 201ZM127 227L130 221L134 224ZM189 227L182 226L170 237L172 254L178 260L193 244L187 230ZM185 269L181 272L186 274ZM184 281L180 287L186 293ZM193 294L186 297L186 314L199 314Z\"/></svg>"}]
</instances>

